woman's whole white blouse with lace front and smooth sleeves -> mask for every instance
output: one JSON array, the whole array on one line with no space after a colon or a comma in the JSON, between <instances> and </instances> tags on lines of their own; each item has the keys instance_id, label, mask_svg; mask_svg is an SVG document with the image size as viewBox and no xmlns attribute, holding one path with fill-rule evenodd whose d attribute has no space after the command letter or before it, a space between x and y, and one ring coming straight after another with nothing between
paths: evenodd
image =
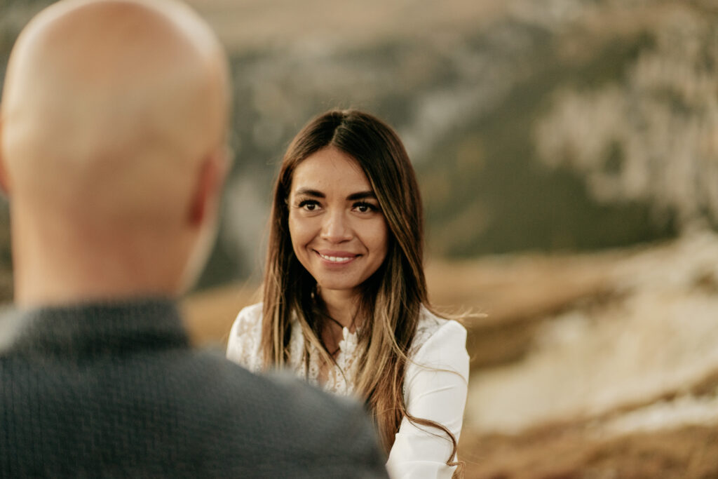
<instances>
[{"instance_id":1,"label":"woman's whole white blouse with lace front and smooth sleeves","mask_svg":"<svg viewBox=\"0 0 718 479\"><path fill-rule=\"evenodd\" d=\"M255 372L261 371L263 366L261 317L261 303L241 310L232 325L227 345L228 359ZM358 334L345 327L343 335L336 357L338 368L329 371L322 388L350 396L357 373ZM302 361L303 350L302 328L294 320L289 338L288 366L297 376L319 385L319 351L313 346L309 350L307 371ZM459 440L469 378L465 328L456 321L436 317L422 307L409 358L411 362L406 366L404 380L406 410L414 417L444 425ZM451 441L440 430L411 424L405 417L396 433L386 468L392 479L448 479L455 469L446 465L451 450Z\"/></svg>"}]
</instances>

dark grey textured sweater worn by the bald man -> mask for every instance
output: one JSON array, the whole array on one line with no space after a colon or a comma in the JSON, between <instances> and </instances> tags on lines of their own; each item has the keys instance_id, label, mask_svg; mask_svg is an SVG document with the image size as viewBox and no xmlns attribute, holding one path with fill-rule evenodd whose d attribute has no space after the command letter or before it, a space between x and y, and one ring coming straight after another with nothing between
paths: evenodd
<instances>
[{"instance_id":1,"label":"dark grey textured sweater worn by the bald man","mask_svg":"<svg viewBox=\"0 0 718 479\"><path fill-rule=\"evenodd\" d=\"M0 343L0 477L386 477L358 404L192 350L169 300L9 311Z\"/></svg>"}]
</instances>

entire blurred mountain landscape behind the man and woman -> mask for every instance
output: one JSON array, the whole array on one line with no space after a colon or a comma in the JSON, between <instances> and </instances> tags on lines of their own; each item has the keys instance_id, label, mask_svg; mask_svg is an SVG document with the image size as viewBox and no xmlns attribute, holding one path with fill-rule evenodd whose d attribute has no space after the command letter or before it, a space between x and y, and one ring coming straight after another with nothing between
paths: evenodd
<instances>
[{"instance_id":1,"label":"entire blurred mountain landscape behind the man and woman","mask_svg":"<svg viewBox=\"0 0 718 479\"><path fill-rule=\"evenodd\" d=\"M45 0L0 0L0 76ZM432 301L470 308L467 478L718 477L718 4L191 0L230 54L217 246L185 300L222 349L271 184L328 108L404 139ZM6 205L0 299L11 299Z\"/></svg>"}]
</instances>

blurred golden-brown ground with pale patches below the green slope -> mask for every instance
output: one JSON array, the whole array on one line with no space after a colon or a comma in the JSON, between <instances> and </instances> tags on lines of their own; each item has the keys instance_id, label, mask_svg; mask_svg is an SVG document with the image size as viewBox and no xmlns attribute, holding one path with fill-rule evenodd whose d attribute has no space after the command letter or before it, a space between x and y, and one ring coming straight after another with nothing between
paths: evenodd
<instances>
[{"instance_id":1,"label":"blurred golden-brown ground with pale patches below the green slope","mask_svg":"<svg viewBox=\"0 0 718 479\"><path fill-rule=\"evenodd\" d=\"M470 313L467 478L718 477L718 236L427 275L435 304ZM223 348L256 298L188 297L196 343Z\"/></svg>"}]
</instances>

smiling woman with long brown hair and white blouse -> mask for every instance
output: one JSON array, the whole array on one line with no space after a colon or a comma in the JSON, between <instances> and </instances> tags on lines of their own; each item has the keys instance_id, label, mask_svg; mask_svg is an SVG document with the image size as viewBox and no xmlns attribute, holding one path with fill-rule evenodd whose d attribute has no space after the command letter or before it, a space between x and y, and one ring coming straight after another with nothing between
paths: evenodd
<instances>
[{"instance_id":1,"label":"smiling woman with long brown hair and white blouse","mask_svg":"<svg viewBox=\"0 0 718 479\"><path fill-rule=\"evenodd\" d=\"M264 302L239 313L227 349L363 399L394 478L452 476L467 393L466 330L429 307L422 224L389 126L352 110L314 118L274 187Z\"/></svg>"}]
</instances>

